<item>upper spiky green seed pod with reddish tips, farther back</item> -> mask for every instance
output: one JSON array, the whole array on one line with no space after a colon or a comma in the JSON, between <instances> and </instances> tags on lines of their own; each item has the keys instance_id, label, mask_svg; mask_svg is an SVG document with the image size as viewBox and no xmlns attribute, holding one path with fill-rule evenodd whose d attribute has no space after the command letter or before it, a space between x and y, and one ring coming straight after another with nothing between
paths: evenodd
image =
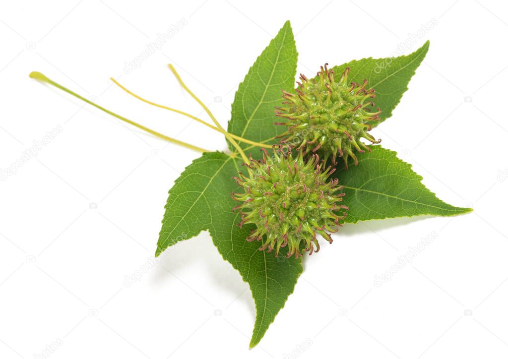
<instances>
[{"instance_id":1,"label":"upper spiky green seed pod with reddish tips, farther back","mask_svg":"<svg viewBox=\"0 0 508 359\"><path fill-rule=\"evenodd\" d=\"M281 134L281 143L305 154L318 152L326 159L342 156L347 168L347 158L358 163L354 151L365 152L369 147L361 138L379 143L367 132L372 128L367 121L379 120L380 110L370 112L374 103L374 89L366 89L367 80L357 84L347 83L350 69L346 68L339 79L335 78L328 64L321 67L317 77L311 80L300 75L296 94L282 91L283 107L275 108L275 115L287 119L276 124L288 126Z\"/></svg>"}]
</instances>

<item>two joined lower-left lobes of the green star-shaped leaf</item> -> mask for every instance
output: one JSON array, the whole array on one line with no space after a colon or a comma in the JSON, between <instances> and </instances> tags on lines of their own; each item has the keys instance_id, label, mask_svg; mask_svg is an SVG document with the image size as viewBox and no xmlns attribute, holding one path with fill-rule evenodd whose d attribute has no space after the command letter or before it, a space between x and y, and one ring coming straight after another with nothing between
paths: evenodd
<instances>
[{"instance_id":1,"label":"two joined lower-left lobes of the green star-shaped leaf","mask_svg":"<svg viewBox=\"0 0 508 359\"><path fill-rule=\"evenodd\" d=\"M238 173L239 163L224 153L212 152L185 169L169 191L155 255L208 230L219 253L249 284L256 304L253 347L293 292L303 269L300 260L275 258L258 250L259 243L245 240L252 227L237 226L239 214L232 211L237 203L230 197L238 190L231 177Z\"/></svg>"}]
</instances>

